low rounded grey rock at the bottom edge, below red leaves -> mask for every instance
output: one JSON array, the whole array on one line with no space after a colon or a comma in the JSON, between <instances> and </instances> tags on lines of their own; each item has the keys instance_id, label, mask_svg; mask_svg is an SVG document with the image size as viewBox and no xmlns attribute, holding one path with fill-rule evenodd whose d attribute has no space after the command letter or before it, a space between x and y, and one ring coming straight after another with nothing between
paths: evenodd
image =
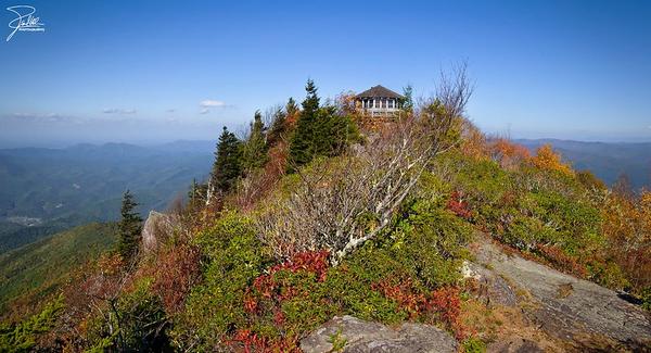
<instances>
[{"instance_id":1,"label":"low rounded grey rock at the bottom edge, below red leaves","mask_svg":"<svg viewBox=\"0 0 651 353\"><path fill-rule=\"evenodd\" d=\"M336 316L301 341L306 353L333 352L457 352L457 341L430 325L405 323L396 329L353 316Z\"/></svg>"}]
</instances>

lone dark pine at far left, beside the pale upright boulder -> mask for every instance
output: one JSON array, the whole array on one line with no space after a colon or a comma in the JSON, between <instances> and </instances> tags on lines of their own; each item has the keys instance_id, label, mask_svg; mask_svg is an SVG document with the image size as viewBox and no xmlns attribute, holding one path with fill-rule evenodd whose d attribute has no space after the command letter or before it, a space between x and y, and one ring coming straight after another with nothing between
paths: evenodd
<instances>
[{"instance_id":1,"label":"lone dark pine at far left, beside the pale upright boulder","mask_svg":"<svg viewBox=\"0 0 651 353\"><path fill-rule=\"evenodd\" d=\"M142 218L135 211L137 205L133 196L127 190L123 194L117 243L117 251L124 260L130 260L138 252L140 244Z\"/></svg>"}]
</instances>

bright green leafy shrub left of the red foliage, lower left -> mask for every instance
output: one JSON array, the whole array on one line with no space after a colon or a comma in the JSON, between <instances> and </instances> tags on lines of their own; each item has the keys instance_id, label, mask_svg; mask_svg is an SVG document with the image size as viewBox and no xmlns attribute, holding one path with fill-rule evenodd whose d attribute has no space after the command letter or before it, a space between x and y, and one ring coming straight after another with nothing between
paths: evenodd
<instances>
[{"instance_id":1,"label":"bright green leafy shrub left of the red foliage, lower left","mask_svg":"<svg viewBox=\"0 0 651 353\"><path fill-rule=\"evenodd\" d=\"M192 290L171 335L178 345L192 342L209 350L233 327L247 326L244 293L268 257L251 220L235 213L222 215L202 231L196 244L205 256L204 282Z\"/></svg>"}]
</instances>

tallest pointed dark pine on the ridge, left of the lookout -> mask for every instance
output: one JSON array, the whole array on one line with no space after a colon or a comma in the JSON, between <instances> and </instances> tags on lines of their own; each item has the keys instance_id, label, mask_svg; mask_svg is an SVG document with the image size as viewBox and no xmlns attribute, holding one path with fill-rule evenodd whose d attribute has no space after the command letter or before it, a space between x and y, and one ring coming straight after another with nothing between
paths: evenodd
<instances>
[{"instance_id":1,"label":"tallest pointed dark pine on the ridge, left of the lookout","mask_svg":"<svg viewBox=\"0 0 651 353\"><path fill-rule=\"evenodd\" d=\"M303 111L296 123L296 129L290 140L289 172L309 163L316 155L316 125L319 110L317 87L311 79L305 86L307 96L303 101Z\"/></svg>"}]
</instances>

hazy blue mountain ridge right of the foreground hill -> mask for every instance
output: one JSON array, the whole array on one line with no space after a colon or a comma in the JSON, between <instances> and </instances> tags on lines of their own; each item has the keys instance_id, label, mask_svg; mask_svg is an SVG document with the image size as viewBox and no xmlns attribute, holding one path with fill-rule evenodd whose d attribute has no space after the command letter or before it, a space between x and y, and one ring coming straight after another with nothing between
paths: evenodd
<instances>
[{"instance_id":1,"label":"hazy blue mountain ridge right of the foreground hill","mask_svg":"<svg viewBox=\"0 0 651 353\"><path fill-rule=\"evenodd\" d=\"M575 169L590 169L607 185L626 174L635 189L651 187L651 142L585 142L559 139L518 139L515 142L535 151L549 143Z\"/></svg>"}]
</instances>

